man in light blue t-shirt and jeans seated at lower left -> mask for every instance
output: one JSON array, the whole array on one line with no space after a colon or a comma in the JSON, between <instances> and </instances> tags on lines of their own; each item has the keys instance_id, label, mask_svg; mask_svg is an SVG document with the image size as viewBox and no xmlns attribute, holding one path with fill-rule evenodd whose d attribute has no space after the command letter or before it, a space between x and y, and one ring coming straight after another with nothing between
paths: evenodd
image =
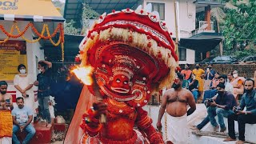
<instances>
[{"instance_id":1,"label":"man in light blue t-shirt and jeans seated at lower left","mask_svg":"<svg viewBox=\"0 0 256 144\"><path fill-rule=\"evenodd\" d=\"M26 130L27 135L22 144L28 143L35 134L34 126L30 124L33 119L33 112L29 107L24 106L24 99L22 97L16 98L16 103L18 107L15 107L11 112L14 121L13 142L14 144L19 144L20 142L15 133L17 133L18 130L21 130L21 132Z\"/></svg>"}]
</instances>

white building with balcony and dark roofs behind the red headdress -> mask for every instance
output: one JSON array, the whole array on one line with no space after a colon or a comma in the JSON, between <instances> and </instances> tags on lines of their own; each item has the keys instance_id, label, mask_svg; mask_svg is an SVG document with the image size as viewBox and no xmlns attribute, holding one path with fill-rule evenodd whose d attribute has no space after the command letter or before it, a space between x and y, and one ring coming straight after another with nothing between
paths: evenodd
<instances>
[{"instance_id":1,"label":"white building with balcony and dark roofs behind the red headdress","mask_svg":"<svg viewBox=\"0 0 256 144\"><path fill-rule=\"evenodd\" d=\"M167 27L175 34L174 1L170 0L86 0L89 6L103 14L110 13L112 10L122 10L127 7L136 9L139 5L145 7L148 3L152 4L152 10L158 11L162 21L166 22ZM179 38L179 64L194 64L195 54L202 58L206 57L206 52L214 49L219 44L222 37L215 33L214 22L210 22L210 8L221 6L218 0L176 0L177 19L178 19L178 38ZM205 11L208 17L204 21L198 22L196 27L196 14ZM64 18L69 22L82 23L82 2L77 0L66 0ZM208 22L209 21L209 22ZM82 24L80 24L82 26ZM197 51L197 53L195 53Z\"/></svg>"}]
</instances>

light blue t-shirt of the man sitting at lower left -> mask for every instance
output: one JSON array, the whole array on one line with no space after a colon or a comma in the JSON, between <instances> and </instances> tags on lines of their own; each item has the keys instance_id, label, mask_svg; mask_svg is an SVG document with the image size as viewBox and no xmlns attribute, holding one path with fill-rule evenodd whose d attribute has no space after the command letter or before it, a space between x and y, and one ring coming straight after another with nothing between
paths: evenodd
<instances>
[{"instance_id":1,"label":"light blue t-shirt of the man sitting at lower left","mask_svg":"<svg viewBox=\"0 0 256 144\"><path fill-rule=\"evenodd\" d=\"M29 115L33 115L33 112L27 106L24 106L22 109L15 106L14 110L11 111L11 115L15 116L18 124L22 126L26 124L26 122L29 120Z\"/></svg>"}]
</instances>

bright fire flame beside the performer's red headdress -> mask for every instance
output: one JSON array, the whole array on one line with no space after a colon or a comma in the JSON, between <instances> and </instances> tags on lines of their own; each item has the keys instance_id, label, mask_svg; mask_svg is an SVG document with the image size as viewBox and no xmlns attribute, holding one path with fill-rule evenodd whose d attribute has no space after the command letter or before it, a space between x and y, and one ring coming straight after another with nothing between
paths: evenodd
<instances>
[{"instance_id":1,"label":"bright fire flame beside the performer's red headdress","mask_svg":"<svg viewBox=\"0 0 256 144\"><path fill-rule=\"evenodd\" d=\"M73 72L84 84L90 86L93 83L91 77L93 70L94 69L91 66L83 66L76 67L74 70L71 70L71 72Z\"/></svg>"}]
</instances>

